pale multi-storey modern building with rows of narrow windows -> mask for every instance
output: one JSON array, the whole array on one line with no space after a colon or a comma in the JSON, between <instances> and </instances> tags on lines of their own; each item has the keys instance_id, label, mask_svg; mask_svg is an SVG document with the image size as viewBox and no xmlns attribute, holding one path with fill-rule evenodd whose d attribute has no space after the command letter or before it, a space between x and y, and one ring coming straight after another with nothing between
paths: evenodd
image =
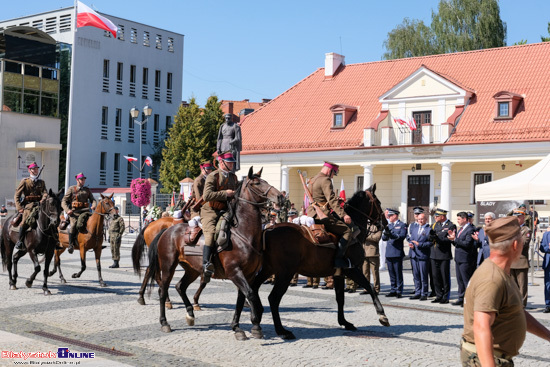
<instances>
[{"instance_id":1,"label":"pale multi-storey modern building with rows of narrow windows","mask_svg":"<svg viewBox=\"0 0 550 367\"><path fill-rule=\"evenodd\" d=\"M181 102L183 68L183 35L103 15L118 26L116 38L94 27L76 29L73 7L0 22L0 31L32 27L55 39L58 53L70 50L74 70L68 184L84 172L87 185L98 190L129 187L139 177L124 156L139 159L141 140L144 161L164 139ZM152 108L141 133L130 116L134 106L140 111ZM144 119L143 114L137 118ZM157 172L155 165L145 166L143 177L158 179Z\"/></svg>"}]
</instances>

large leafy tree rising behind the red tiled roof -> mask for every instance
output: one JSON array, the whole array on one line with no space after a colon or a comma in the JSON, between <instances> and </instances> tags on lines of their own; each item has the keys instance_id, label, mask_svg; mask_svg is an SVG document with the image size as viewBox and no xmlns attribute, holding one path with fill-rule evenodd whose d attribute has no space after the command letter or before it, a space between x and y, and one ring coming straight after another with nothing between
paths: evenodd
<instances>
[{"instance_id":1,"label":"large leafy tree rising behind the red tiled roof","mask_svg":"<svg viewBox=\"0 0 550 367\"><path fill-rule=\"evenodd\" d=\"M429 30L429 31L428 31ZM480 50L506 45L498 0L441 0L428 28L405 18L388 33L385 59Z\"/></svg>"}]
</instances>

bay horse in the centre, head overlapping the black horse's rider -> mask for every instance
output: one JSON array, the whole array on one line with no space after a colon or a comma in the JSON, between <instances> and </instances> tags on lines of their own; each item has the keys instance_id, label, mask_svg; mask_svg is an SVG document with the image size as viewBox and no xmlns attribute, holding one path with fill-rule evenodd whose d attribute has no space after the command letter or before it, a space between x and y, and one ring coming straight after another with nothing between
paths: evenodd
<instances>
[{"instance_id":1,"label":"bay horse in the centre, head overlapping the black horse's rider","mask_svg":"<svg viewBox=\"0 0 550 367\"><path fill-rule=\"evenodd\" d=\"M220 252L214 259L217 278L226 278L233 281L237 288L245 295L250 304L252 335L262 338L260 327L262 305L257 289L250 286L262 265L261 235L262 221L260 207L268 200L279 202L283 200L281 193L258 174L253 174L252 168L247 177L239 183L235 190L235 198L230 207L234 213L231 221L230 246ZM178 264L185 269L183 278L176 285L187 309L187 323L194 325L195 315L193 306L187 298L185 291L202 272L202 261L199 256L187 257L183 235L186 225L176 225L165 230L157 236L149 247L150 275L159 284L160 296L160 323L162 331L170 332L171 328L166 320L164 303L168 294L170 281ZM139 264L134 263L134 268ZM153 280L151 280L153 283ZM247 339L244 331L238 325L232 325L235 337L238 340Z\"/></svg>"}]
</instances>

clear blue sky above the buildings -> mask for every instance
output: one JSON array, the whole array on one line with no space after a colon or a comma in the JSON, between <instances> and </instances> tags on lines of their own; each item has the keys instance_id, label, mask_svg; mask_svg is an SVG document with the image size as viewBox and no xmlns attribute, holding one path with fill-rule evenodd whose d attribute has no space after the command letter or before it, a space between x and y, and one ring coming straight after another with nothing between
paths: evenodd
<instances>
[{"instance_id":1,"label":"clear blue sky above the buildings","mask_svg":"<svg viewBox=\"0 0 550 367\"><path fill-rule=\"evenodd\" d=\"M72 6L71 0L4 1L1 19ZM183 96L275 98L324 67L327 52L346 63L380 60L403 18L429 24L439 0L84 0L100 12L185 35ZM500 1L507 43L548 35L550 1Z\"/></svg>"}]
</instances>

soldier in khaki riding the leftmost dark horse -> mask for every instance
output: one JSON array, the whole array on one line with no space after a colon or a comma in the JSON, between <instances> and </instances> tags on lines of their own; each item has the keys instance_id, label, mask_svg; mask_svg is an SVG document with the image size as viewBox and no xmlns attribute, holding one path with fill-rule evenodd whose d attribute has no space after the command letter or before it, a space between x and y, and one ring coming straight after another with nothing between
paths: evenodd
<instances>
[{"instance_id":1,"label":"soldier in khaki riding the leftmost dark horse","mask_svg":"<svg viewBox=\"0 0 550 367\"><path fill-rule=\"evenodd\" d=\"M46 183L38 178L38 164L32 162L27 166L30 177L24 178L15 190L15 207L19 213L23 213L21 226L19 227L19 240L15 244L17 250L25 248L24 239L27 230L29 229L27 218L31 214L32 208L38 202L46 200L48 192L46 191Z\"/></svg>"}]
</instances>

